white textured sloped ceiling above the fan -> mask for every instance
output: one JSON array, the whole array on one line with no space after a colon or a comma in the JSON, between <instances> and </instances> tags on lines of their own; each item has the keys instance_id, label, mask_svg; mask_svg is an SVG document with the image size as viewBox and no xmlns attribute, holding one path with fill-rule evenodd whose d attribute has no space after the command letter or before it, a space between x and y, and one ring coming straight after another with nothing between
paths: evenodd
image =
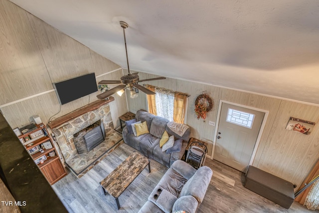
<instances>
[{"instance_id":1,"label":"white textured sloped ceiling above the fan","mask_svg":"<svg viewBox=\"0 0 319 213\"><path fill-rule=\"evenodd\" d=\"M319 104L318 0L11 0L115 63Z\"/></svg>"}]
</instances>

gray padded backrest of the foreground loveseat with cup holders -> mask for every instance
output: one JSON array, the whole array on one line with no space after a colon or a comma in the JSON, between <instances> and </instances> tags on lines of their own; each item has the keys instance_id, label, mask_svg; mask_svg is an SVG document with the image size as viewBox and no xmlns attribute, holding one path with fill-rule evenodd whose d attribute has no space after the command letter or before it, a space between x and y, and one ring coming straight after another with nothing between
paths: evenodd
<instances>
[{"instance_id":1,"label":"gray padded backrest of the foreground loveseat with cup holders","mask_svg":"<svg viewBox=\"0 0 319 213\"><path fill-rule=\"evenodd\" d=\"M212 175L213 172L209 167L200 167L193 177L186 182L179 194L179 198L190 195L200 204L204 199Z\"/></svg>"}]
</instances>

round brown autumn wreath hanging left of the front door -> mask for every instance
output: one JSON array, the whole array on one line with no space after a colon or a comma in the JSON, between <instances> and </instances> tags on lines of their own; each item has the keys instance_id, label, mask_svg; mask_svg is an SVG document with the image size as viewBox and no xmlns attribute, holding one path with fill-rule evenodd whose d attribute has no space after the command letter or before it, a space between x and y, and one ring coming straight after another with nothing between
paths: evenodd
<instances>
[{"instance_id":1,"label":"round brown autumn wreath hanging left of the front door","mask_svg":"<svg viewBox=\"0 0 319 213\"><path fill-rule=\"evenodd\" d=\"M212 110L214 106L213 100L209 97L209 93L203 91L203 94L198 95L195 100L195 113L197 115L197 119L202 118L206 119L206 112Z\"/></svg>"}]
</instances>

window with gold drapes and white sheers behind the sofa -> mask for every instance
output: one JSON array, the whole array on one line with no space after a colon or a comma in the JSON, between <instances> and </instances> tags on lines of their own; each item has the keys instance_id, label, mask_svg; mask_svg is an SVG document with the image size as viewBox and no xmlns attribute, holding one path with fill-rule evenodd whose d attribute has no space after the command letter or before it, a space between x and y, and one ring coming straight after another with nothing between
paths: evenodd
<instances>
[{"instance_id":1,"label":"window with gold drapes and white sheers behind the sofa","mask_svg":"<svg viewBox=\"0 0 319 213\"><path fill-rule=\"evenodd\" d=\"M169 121L184 123L187 110L187 94L152 85L146 85L146 87L156 92L155 95L147 95L150 113L164 117Z\"/></svg>"}]
</instances>

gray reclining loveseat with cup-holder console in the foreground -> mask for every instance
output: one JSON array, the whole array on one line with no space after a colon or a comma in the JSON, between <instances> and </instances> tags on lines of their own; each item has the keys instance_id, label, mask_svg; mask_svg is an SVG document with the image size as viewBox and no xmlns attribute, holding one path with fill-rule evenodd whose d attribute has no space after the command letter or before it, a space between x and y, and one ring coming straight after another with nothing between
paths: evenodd
<instances>
[{"instance_id":1,"label":"gray reclining loveseat with cup-holder console in the foreground","mask_svg":"<svg viewBox=\"0 0 319 213\"><path fill-rule=\"evenodd\" d=\"M209 167L195 170L184 161L175 161L139 213L194 213L204 199L212 174Z\"/></svg>"}]
</instances>

